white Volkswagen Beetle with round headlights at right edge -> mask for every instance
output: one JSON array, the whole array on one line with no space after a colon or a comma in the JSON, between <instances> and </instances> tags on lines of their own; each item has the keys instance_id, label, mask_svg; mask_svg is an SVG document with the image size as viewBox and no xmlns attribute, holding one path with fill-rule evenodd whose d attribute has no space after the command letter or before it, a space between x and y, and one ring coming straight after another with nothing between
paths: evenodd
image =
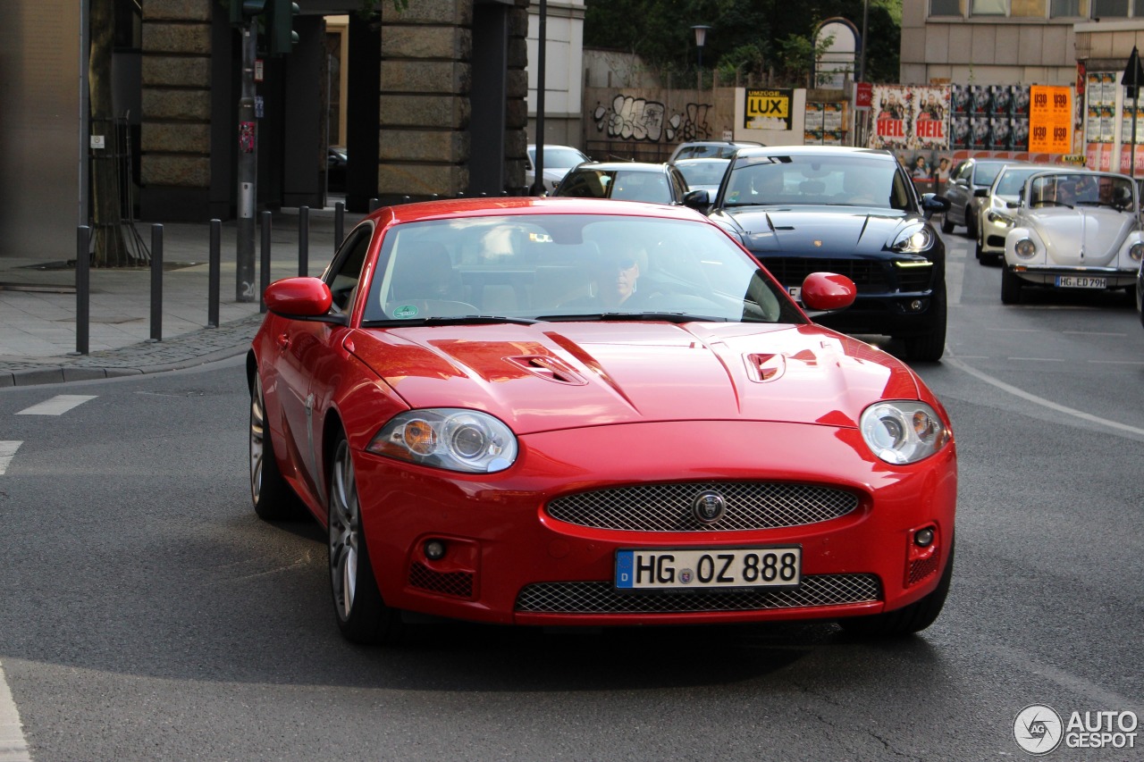
<instances>
[{"instance_id":1,"label":"white Volkswagen Beetle with round headlights at right edge","mask_svg":"<svg viewBox=\"0 0 1144 762\"><path fill-rule=\"evenodd\" d=\"M1055 288L1129 288L1144 254L1139 196L1128 175L1059 169L1030 175L1010 203L1001 301L1015 304L1035 284Z\"/></svg>"}]
</instances>

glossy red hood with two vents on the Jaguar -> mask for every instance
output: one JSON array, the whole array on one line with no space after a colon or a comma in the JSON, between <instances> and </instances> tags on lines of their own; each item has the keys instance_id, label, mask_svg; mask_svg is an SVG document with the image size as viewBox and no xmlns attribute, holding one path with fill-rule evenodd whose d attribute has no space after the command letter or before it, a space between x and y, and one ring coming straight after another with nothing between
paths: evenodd
<instances>
[{"instance_id":1,"label":"glossy red hood with two vents on the Jaguar","mask_svg":"<svg viewBox=\"0 0 1144 762\"><path fill-rule=\"evenodd\" d=\"M680 420L853 427L876 399L919 398L900 362L812 325L408 327L355 331L345 346L411 407L483 410L517 434Z\"/></svg>"}]
</instances>

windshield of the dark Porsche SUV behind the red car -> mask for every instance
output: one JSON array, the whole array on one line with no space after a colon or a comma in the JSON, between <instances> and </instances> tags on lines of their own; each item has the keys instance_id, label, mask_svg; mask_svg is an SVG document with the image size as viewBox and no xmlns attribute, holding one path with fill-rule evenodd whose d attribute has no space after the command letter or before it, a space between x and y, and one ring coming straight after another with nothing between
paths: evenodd
<instances>
[{"instance_id":1,"label":"windshield of the dark Porsche SUV behind the red car","mask_svg":"<svg viewBox=\"0 0 1144 762\"><path fill-rule=\"evenodd\" d=\"M734 159L723 204L912 209L913 198L895 161L859 154L795 154Z\"/></svg>"}]
</instances>

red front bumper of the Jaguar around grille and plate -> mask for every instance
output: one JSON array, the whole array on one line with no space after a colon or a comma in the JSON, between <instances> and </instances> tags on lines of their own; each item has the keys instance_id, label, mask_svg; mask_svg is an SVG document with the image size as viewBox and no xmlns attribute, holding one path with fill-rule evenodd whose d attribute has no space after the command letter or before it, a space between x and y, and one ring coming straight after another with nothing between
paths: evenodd
<instances>
[{"instance_id":1,"label":"red front bumper of the Jaguar around grille and plate","mask_svg":"<svg viewBox=\"0 0 1144 762\"><path fill-rule=\"evenodd\" d=\"M513 468L477 476L356 453L363 525L387 603L522 625L837 618L931 592L953 539L952 443L897 467L871 455L855 429L708 421L534 434L521 446ZM550 509L557 498L599 490L728 483L815 485L855 501L842 515L748 529L588 525ZM938 540L919 555L912 538L925 526ZM426 557L430 539L445 542L443 558ZM794 589L629 593L612 585L619 549L789 545L802 548L803 582Z\"/></svg>"}]
</instances>

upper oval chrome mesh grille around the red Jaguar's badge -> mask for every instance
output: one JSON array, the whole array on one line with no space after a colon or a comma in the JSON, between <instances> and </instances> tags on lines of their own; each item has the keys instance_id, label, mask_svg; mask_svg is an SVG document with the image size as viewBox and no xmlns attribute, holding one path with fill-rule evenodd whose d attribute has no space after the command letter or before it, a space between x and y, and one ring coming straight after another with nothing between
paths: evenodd
<instances>
[{"instance_id":1,"label":"upper oval chrome mesh grille around the red Jaguar's badge","mask_svg":"<svg viewBox=\"0 0 1144 762\"><path fill-rule=\"evenodd\" d=\"M718 492L723 517L699 521L696 499ZM634 532L726 532L803 526L845 516L858 507L853 492L810 484L683 482L595 490L557 498L548 515L569 524Z\"/></svg>"}]
</instances>

